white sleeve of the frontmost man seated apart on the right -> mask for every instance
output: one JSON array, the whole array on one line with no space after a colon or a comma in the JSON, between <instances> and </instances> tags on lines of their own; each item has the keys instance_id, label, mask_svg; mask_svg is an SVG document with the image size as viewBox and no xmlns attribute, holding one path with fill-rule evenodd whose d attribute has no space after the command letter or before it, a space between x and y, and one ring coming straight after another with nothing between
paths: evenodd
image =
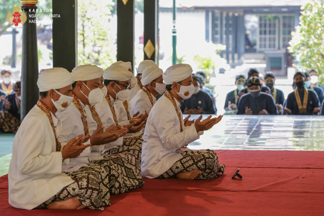
<instances>
[{"instance_id":1,"label":"white sleeve of the frontmost man seated apart on the right","mask_svg":"<svg viewBox=\"0 0 324 216\"><path fill-rule=\"evenodd\" d=\"M183 131L177 133L175 129L175 121L179 121L178 116L175 118L174 113L169 107L161 108L162 109L157 110L157 113L159 114L154 115L153 121L162 145L166 149L172 150L181 148L199 138L194 124L188 127L183 127Z\"/></svg>"}]
</instances>

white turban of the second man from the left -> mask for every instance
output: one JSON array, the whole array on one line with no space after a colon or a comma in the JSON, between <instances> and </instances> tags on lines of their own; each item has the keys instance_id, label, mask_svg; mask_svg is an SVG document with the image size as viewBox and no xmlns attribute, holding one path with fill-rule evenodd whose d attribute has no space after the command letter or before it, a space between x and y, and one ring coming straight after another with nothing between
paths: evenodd
<instances>
[{"instance_id":1,"label":"white turban of the second man from the left","mask_svg":"<svg viewBox=\"0 0 324 216\"><path fill-rule=\"evenodd\" d=\"M73 81L87 81L100 78L103 69L96 65L79 65L72 69Z\"/></svg>"}]
</instances>

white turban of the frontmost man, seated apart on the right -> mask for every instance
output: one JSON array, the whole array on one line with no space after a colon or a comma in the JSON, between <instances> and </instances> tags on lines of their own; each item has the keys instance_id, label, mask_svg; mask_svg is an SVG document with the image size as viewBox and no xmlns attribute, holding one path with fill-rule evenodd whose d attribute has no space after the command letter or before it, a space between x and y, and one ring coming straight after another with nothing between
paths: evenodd
<instances>
[{"instance_id":1,"label":"white turban of the frontmost man, seated apart on the right","mask_svg":"<svg viewBox=\"0 0 324 216\"><path fill-rule=\"evenodd\" d=\"M190 65L176 64L168 67L168 69L162 75L164 82L168 85L188 78L191 73L192 68Z\"/></svg>"}]
</instances>

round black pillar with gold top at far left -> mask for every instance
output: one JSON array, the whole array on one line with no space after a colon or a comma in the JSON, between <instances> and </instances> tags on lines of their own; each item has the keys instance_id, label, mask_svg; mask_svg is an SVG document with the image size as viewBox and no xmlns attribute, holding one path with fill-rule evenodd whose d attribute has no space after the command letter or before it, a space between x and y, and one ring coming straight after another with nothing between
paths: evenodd
<instances>
[{"instance_id":1,"label":"round black pillar with gold top at far left","mask_svg":"<svg viewBox=\"0 0 324 216\"><path fill-rule=\"evenodd\" d=\"M36 32L37 0L20 0L27 15L27 21L22 25L22 60L21 60L21 121L39 99L38 52ZM29 11L30 9L30 11ZM34 10L33 10L34 9ZM29 16L31 15L31 16ZM34 21L35 20L35 21ZM34 22L33 22L34 21Z\"/></svg>"}]
</instances>

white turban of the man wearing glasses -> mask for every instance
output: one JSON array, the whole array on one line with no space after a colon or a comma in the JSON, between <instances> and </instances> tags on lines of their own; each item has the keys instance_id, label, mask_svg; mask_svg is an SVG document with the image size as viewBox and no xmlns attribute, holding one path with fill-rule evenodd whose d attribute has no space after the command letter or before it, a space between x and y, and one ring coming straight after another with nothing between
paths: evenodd
<instances>
[{"instance_id":1,"label":"white turban of the man wearing glasses","mask_svg":"<svg viewBox=\"0 0 324 216\"><path fill-rule=\"evenodd\" d=\"M121 65L113 65L104 70L103 78L108 80L128 81L133 78L133 73Z\"/></svg>"}]
</instances>

